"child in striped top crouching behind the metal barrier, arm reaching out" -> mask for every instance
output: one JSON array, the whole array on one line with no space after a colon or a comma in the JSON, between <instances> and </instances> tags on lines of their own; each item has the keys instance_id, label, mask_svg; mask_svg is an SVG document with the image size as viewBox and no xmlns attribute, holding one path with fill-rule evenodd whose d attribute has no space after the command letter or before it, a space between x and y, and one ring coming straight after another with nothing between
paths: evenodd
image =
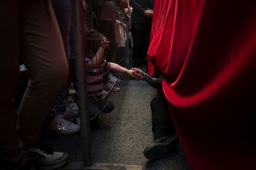
<instances>
[{"instance_id":1,"label":"child in striped top crouching behind the metal barrier, arm reaching out","mask_svg":"<svg viewBox=\"0 0 256 170\"><path fill-rule=\"evenodd\" d=\"M85 63L87 68L87 94L88 111L90 119L98 116L100 112L109 113L114 109L114 104L106 96L103 89L103 75L106 70L112 70L117 73L126 73L134 77L133 70L127 70L124 67L112 62L107 62L105 50L108 48L108 40L103 34L96 30L90 30L86 37L87 56Z\"/></svg>"}]
</instances>

